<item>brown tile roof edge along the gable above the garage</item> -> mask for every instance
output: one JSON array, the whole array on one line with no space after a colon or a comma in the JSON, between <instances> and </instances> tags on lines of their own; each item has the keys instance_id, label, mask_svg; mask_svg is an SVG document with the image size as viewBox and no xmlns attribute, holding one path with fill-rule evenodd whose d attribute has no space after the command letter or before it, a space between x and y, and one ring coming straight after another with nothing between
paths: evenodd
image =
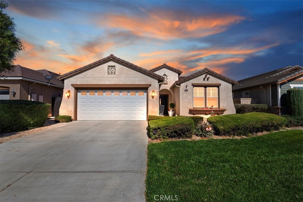
<instances>
[{"instance_id":1,"label":"brown tile roof edge along the gable above the garage","mask_svg":"<svg viewBox=\"0 0 303 202\"><path fill-rule=\"evenodd\" d=\"M81 67L81 68L75 69L75 70L73 70L73 71L70 71L70 72L68 72L68 73L65 73L65 74L63 74L63 75L60 75L60 76L57 77L57 79L62 80L62 79L64 79L64 78L66 78L66 77L72 75L73 73L83 71L83 70L85 70L85 69L87 69L87 68L90 68L90 67L92 67L92 66L98 65L98 64L100 64L100 63L102 63L102 62L104 62L104 61L110 60L110 59L115 60L115 61L118 61L118 62L120 62L120 63L123 63L124 65L128 65L128 66L130 66L130 67L132 67L132 68L135 68L135 69L137 69L137 70L139 70L139 71L142 71L142 72L144 72L144 73L146 73L146 74L148 74L148 75L151 75L151 76L153 76L153 77L156 77L156 78L158 78L158 79L161 80L161 81L164 79L164 78L163 78L162 76L160 76L160 75L152 74L151 71L148 71L148 70L146 70L146 69L144 69L144 68L142 68L142 67L139 67L139 66L137 66L137 65L134 65L134 64L132 64L132 63L130 63L130 62L128 62L128 61L125 61L125 60L122 60L122 59L120 59L120 58L118 58L118 57L115 57L115 55L113 55L113 54L111 54L111 55L109 55L109 56L107 56L107 57L105 57L105 58L102 58L101 60L95 61L95 62L93 62L93 63L91 63L91 64L89 64L89 65L85 65L84 67Z\"/></svg>"}]
</instances>

